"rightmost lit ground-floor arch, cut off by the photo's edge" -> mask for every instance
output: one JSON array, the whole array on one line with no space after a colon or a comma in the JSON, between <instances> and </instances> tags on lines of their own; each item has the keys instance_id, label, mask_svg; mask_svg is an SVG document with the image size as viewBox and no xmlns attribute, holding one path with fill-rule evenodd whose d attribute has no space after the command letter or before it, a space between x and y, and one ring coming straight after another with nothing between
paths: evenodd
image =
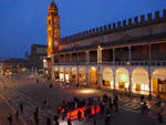
<instances>
[{"instance_id":1,"label":"rightmost lit ground-floor arch, cut off by the photo's edge","mask_svg":"<svg viewBox=\"0 0 166 125\"><path fill-rule=\"evenodd\" d=\"M166 93L166 69L156 69L152 73L154 93Z\"/></svg>"}]
</instances>

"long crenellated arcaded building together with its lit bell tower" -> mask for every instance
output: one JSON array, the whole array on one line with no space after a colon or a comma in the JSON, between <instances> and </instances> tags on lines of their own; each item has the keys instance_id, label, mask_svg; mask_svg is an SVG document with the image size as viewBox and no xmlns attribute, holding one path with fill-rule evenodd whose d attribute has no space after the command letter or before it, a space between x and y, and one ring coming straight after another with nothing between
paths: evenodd
<instances>
[{"instance_id":1,"label":"long crenellated arcaded building together with its lit bell tower","mask_svg":"<svg viewBox=\"0 0 166 125\"><path fill-rule=\"evenodd\" d=\"M48 46L55 81L166 94L166 10L60 38L59 11L52 1Z\"/></svg>"}]
</instances>

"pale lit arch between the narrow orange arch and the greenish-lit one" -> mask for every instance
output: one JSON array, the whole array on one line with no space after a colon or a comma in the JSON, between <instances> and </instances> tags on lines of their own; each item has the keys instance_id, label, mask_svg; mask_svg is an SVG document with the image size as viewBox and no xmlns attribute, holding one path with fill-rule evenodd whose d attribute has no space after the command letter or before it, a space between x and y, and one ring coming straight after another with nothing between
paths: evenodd
<instances>
[{"instance_id":1,"label":"pale lit arch between the narrow orange arch and the greenish-lit one","mask_svg":"<svg viewBox=\"0 0 166 125\"><path fill-rule=\"evenodd\" d=\"M114 86L113 70L111 67L103 69L103 86Z\"/></svg>"}]
</instances>

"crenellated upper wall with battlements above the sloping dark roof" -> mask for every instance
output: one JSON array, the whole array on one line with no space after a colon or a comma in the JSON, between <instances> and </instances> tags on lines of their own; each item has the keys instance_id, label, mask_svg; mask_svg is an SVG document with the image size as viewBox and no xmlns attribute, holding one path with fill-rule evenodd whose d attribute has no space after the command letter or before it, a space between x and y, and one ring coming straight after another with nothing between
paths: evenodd
<instances>
[{"instance_id":1,"label":"crenellated upper wall with battlements above the sloping dark roof","mask_svg":"<svg viewBox=\"0 0 166 125\"><path fill-rule=\"evenodd\" d=\"M156 11L154 14L143 14L62 38L60 51L159 33L166 33L166 10L163 10L163 12Z\"/></svg>"}]
</instances>

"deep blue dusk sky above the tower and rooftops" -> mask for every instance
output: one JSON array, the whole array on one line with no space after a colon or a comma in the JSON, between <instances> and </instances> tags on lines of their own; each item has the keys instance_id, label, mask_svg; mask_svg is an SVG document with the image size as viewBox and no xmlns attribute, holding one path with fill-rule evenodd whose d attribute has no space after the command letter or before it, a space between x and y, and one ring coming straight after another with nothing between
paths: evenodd
<instances>
[{"instance_id":1,"label":"deep blue dusk sky above the tower and rooftops","mask_svg":"<svg viewBox=\"0 0 166 125\"><path fill-rule=\"evenodd\" d=\"M23 58L31 44L46 44L52 0L0 0L0 58ZM61 37L166 9L166 0L54 0Z\"/></svg>"}]
</instances>

